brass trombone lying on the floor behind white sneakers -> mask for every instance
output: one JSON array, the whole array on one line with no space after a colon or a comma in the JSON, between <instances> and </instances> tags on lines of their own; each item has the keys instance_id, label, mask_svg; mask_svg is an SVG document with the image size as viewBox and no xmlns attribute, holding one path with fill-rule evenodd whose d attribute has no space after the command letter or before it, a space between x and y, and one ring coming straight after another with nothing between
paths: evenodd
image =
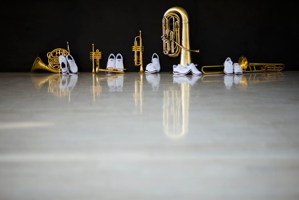
<instances>
[{"instance_id":1,"label":"brass trombone lying on the floor behind white sneakers","mask_svg":"<svg viewBox=\"0 0 299 200\"><path fill-rule=\"evenodd\" d=\"M284 64L275 64L275 63L248 63L244 55L241 55L238 61L243 72L267 72L267 71L281 71L284 69ZM211 67L224 67L224 65L213 65L213 66L203 66L202 73L204 74L218 74L224 73L221 72L206 72L204 68ZM249 67L249 68L248 68ZM252 67L252 68L251 68ZM258 67L258 68L257 68Z\"/></svg>"}]
</instances>

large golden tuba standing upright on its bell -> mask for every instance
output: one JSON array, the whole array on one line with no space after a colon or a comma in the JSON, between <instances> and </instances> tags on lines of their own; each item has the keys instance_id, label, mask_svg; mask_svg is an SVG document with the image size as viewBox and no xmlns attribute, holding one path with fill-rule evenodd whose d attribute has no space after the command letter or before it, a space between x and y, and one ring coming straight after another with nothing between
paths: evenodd
<instances>
[{"instance_id":1,"label":"large golden tuba standing upright on its bell","mask_svg":"<svg viewBox=\"0 0 299 200\"><path fill-rule=\"evenodd\" d=\"M190 50L189 18L186 10L181 7L168 9L164 14L162 23L163 35L161 37L164 54L177 57L181 53L180 64L185 66L187 62L191 63L190 52L199 53L199 50Z\"/></svg>"}]
</instances>

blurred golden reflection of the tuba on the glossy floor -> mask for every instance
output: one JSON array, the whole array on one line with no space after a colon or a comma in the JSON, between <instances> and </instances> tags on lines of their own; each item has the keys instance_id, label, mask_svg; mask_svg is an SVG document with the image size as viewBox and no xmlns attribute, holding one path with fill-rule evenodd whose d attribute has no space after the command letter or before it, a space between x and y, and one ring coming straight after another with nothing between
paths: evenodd
<instances>
[{"instance_id":1,"label":"blurred golden reflection of the tuba on the glossy floor","mask_svg":"<svg viewBox=\"0 0 299 200\"><path fill-rule=\"evenodd\" d=\"M188 132L190 84L183 82L180 90L164 91L163 127L165 134L178 139Z\"/></svg>"}]
</instances>

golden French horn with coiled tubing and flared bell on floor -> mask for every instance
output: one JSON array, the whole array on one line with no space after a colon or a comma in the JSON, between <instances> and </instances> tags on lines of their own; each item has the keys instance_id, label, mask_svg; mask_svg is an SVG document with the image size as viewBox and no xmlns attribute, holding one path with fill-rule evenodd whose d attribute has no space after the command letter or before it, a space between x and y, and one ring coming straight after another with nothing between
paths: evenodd
<instances>
[{"instance_id":1,"label":"golden French horn with coiled tubing and flared bell on floor","mask_svg":"<svg viewBox=\"0 0 299 200\"><path fill-rule=\"evenodd\" d=\"M68 42L66 42L66 43L68 44ZM49 65L45 64L38 55L36 57L33 65L32 65L31 73L35 70L38 70L38 69L48 70L48 71L53 72L53 73L59 73L60 64L59 64L59 61L58 61L58 57L60 55L66 56L68 54L70 54L69 46L68 46L68 50L59 48L59 49L54 49L51 52L48 52L47 57L48 57Z\"/></svg>"}]
</instances>

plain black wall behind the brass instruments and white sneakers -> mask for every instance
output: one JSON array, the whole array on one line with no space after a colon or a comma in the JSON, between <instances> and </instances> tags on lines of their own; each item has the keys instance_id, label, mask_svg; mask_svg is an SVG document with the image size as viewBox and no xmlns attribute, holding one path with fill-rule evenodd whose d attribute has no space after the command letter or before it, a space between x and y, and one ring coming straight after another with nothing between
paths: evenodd
<instances>
[{"instance_id":1,"label":"plain black wall behind the brass instruments and white sneakers","mask_svg":"<svg viewBox=\"0 0 299 200\"><path fill-rule=\"evenodd\" d=\"M156 52L161 71L171 71L179 57L162 51L162 17L173 6L189 15L190 46L199 67L237 62L245 55L250 62L284 63L285 70L298 70L296 7L286 1L14 1L1 7L1 72L30 72L36 56L47 64L47 52L67 48L79 72L91 71L92 43L102 52L106 67L110 53L123 55L127 71L134 66L132 45L142 31L144 69ZM295 29L295 30L294 30ZM296 37L295 37L296 36Z\"/></svg>"}]
</instances>

